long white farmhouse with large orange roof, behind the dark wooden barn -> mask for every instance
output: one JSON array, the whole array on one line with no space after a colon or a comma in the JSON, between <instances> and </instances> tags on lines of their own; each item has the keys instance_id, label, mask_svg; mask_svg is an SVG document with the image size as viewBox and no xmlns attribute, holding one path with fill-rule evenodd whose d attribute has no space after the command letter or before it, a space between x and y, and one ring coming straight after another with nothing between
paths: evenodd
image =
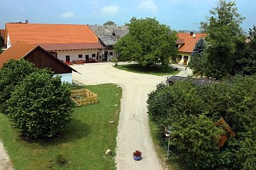
<instances>
[{"instance_id":1,"label":"long white farmhouse with large orange roof, behind the dark wooden barn","mask_svg":"<svg viewBox=\"0 0 256 170\"><path fill-rule=\"evenodd\" d=\"M87 25L75 24L5 24L4 43L7 49L17 41L40 45L61 61L101 59L102 45Z\"/></svg>"}]
</instances>

